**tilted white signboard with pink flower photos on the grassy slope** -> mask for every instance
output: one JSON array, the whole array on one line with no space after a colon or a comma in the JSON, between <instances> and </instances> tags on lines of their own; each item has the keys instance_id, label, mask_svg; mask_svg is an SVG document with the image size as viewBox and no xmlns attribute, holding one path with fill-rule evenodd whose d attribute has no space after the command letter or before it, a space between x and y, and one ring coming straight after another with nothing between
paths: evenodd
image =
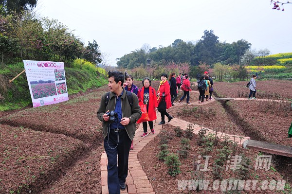
<instances>
[{"instance_id":1,"label":"tilted white signboard with pink flower photos on the grassy slope","mask_svg":"<svg viewBox=\"0 0 292 194\"><path fill-rule=\"evenodd\" d=\"M63 62L23 60L34 107L69 100Z\"/></svg>"}]
</instances>

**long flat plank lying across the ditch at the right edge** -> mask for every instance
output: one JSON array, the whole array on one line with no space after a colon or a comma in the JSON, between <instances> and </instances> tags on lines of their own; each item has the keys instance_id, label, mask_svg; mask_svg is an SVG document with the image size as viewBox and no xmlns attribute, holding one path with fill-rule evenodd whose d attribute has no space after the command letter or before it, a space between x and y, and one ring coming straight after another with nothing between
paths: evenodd
<instances>
[{"instance_id":1,"label":"long flat plank lying across the ditch at the right edge","mask_svg":"<svg viewBox=\"0 0 292 194\"><path fill-rule=\"evenodd\" d=\"M291 146L268 143L264 141L246 140L243 142L243 147L248 147L250 149L254 149L260 152L267 152L270 154L276 154L292 158Z\"/></svg>"}]
</instances>

